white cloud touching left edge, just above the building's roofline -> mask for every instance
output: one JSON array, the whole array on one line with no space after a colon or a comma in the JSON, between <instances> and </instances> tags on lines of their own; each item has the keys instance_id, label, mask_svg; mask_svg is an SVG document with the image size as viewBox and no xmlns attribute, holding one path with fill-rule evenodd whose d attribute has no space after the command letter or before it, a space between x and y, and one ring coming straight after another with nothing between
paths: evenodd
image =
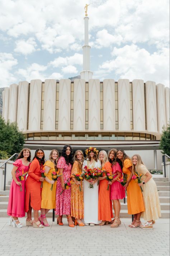
<instances>
[{"instance_id":1,"label":"white cloud touching left edge, just above the building's roofline","mask_svg":"<svg viewBox=\"0 0 170 256\"><path fill-rule=\"evenodd\" d=\"M17 59L11 53L0 53L0 87L9 87L10 84L18 82L12 73L17 64Z\"/></svg>"}]
</instances>

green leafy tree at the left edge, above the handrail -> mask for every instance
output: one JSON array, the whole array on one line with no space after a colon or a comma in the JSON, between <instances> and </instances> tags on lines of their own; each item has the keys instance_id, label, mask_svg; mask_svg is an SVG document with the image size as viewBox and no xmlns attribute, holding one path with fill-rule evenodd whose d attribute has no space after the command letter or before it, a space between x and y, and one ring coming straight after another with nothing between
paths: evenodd
<instances>
[{"instance_id":1,"label":"green leafy tree at the left edge, above the handrail","mask_svg":"<svg viewBox=\"0 0 170 256\"><path fill-rule=\"evenodd\" d=\"M24 145L24 135L19 131L16 123L5 123L0 116L0 150L9 155L19 153Z\"/></svg>"}]
</instances>

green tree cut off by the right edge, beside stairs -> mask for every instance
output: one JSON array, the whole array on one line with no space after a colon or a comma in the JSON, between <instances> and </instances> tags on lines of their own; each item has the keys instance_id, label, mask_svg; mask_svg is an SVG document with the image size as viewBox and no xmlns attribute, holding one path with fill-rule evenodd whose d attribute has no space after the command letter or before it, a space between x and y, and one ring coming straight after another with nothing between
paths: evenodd
<instances>
[{"instance_id":1,"label":"green tree cut off by the right edge, beside stairs","mask_svg":"<svg viewBox=\"0 0 170 256\"><path fill-rule=\"evenodd\" d=\"M162 149L163 154L167 154L170 156L170 125L167 127L162 127L162 135L160 139L160 149Z\"/></svg>"}]
</instances>

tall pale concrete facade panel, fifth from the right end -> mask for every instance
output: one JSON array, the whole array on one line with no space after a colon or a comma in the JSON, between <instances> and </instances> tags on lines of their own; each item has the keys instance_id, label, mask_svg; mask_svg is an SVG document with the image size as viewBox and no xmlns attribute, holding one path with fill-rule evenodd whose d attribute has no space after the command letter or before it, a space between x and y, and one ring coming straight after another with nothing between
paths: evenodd
<instances>
[{"instance_id":1,"label":"tall pale concrete facade panel, fifth from the right end","mask_svg":"<svg viewBox=\"0 0 170 256\"><path fill-rule=\"evenodd\" d=\"M130 85L128 79L118 80L119 131L131 131Z\"/></svg>"}]
</instances>

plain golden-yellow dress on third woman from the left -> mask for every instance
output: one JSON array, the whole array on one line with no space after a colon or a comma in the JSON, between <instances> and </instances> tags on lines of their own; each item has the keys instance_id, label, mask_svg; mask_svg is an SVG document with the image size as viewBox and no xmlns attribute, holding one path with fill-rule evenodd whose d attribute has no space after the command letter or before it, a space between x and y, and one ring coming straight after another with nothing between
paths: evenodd
<instances>
[{"instance_id":1,"label":"plain golden-yellow dress on third woman from the left","mask_svg":"<svg viewBox=\"0 0 170 256\"><path fill-rule=\"evenodd\" d=\"M47 165L50 167L49 172L47 174L47 178L49 180L52 180L51 173L55 171L55 167L53 162L50 160L46 161L44 163L44 166ZM46 180L43 181L43 188L42 188L42 194L41 194L41 208L44 209L55 209L56 208L56 186L57 186L57 181L55 184L53 184L53 189L51 191L51 185L48 183Z\"/></svg>"}]
</instances>

